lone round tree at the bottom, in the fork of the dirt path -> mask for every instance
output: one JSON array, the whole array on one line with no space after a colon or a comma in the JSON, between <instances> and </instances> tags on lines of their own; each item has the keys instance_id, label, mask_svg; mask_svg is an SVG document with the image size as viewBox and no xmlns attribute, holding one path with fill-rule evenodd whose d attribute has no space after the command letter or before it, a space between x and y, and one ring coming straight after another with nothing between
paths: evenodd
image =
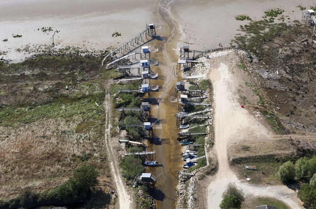
<instances>
[{"instance_id":1,"label":"lone round tree at the bottom, in the fork of the dirt path","mask_svg":"<svg viewBox=\"0 0 316 209\"><path fill-rule=\"evenodd\" d=\"M232 198L231 196L234 196L235 198ZM226 204L228 203L234 203L234 205L231 205L229 208L240 208L241 203L245 200L242 189L232 182L228 183L226 190L222 194L222 198L223 200L225 199L223 206L227 206ZM237 204L235 204L235 200L237 201Z\"/></svg>"}]
</instances>

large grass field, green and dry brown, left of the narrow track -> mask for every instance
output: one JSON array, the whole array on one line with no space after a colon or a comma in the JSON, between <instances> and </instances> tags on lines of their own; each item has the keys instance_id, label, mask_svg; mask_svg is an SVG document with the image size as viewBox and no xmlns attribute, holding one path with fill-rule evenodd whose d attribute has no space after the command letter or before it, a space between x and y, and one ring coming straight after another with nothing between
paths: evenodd
<instances>
[{"instance_id":1,"label":"large grass field, green and dry brown, left of the narrow track","mask_svg":"<svg viewBox=\"0 0 316 209\"><path fill-rule=\"evenodd\" d=\"M98 169L103 193L112 189L102 103L106 79L120 75L100 63L99 58L42 56L0 64L0 92L5 92L0 94L0 200L25 189L52 189L80 165Z\"/></svg>"}]
</instances>

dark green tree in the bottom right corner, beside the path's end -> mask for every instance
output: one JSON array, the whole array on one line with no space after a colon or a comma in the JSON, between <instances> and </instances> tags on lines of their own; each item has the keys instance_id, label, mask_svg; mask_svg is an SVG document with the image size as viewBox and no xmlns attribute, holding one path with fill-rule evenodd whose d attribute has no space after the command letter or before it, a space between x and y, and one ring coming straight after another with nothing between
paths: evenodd
<instances>
[{"instance_id":1,"label":"dark green tree in the bottom right corner, beside the path's end","mask_svg":"<svg viewBox=\"0 0 316 209\"><path fill-rule=\"evenodd\" d=\"M297 192L297 197L304 202L306 208L316 207L316 188L311 187L308 183L301 186Z\"/></svg>"}]
</instances>

